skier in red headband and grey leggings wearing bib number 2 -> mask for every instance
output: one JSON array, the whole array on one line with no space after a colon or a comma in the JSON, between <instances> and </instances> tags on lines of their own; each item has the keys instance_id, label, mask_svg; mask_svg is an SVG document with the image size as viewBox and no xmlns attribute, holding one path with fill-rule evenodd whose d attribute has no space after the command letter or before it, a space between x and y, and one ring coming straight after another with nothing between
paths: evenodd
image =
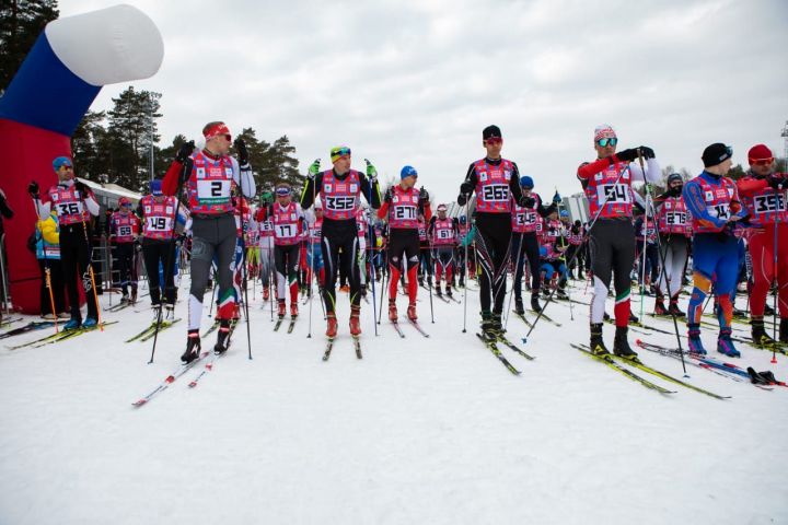
<instances>
[{"instance_id":1,"label":"skier in red headband and grey leggings wearing bib number 2","mask_svg":"<svg viewBox=\"0 0 788 525\"><path fill-rule=\"evenodd\" d=\"M236 244L231 198L233 184L239 185L246 197L255 195L252 166L243 140L235 141L239 154L235 160L228 155L232 135L224 122L208 122L202 128L202 136L206 143L201 150L194 151L193 143L181 147L162 183L163 192L169 196L174 196L178 186L184 185L192 211L192 287L186 350L181 357L184 363L190 363L200 354L202 295L215 255L218 259L216 279L219 283L219 334L213 352L220 354L228 349L230 320L235 313L236 303L233 287Z\"/></svg>"}]
</instances>

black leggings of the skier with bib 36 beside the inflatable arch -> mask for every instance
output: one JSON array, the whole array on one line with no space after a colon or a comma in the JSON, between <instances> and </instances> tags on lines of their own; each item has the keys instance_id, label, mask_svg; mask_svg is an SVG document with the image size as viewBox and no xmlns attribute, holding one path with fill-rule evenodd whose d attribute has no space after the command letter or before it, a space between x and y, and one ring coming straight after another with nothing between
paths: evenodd
<instances>
[{"instance_id":1,"label":"black leggings of the skier with bib 36 beside the inflatable arch","mask_svg":"<svg viewBox=\"0 0 788 525\"><path fill-rule=\"evenodd\" d=\"M88 231L90 236L90 229ZM63 282L68 291L71 317L82 319L80 313L77 282L82 281L82 290L88 302L88 317L99 319L99 305L90 272L91 246L85 238L82 223L60 228L60 264L62 265ZM77 279L74 279L77 277Z\"/></svg>"}]
</instances>

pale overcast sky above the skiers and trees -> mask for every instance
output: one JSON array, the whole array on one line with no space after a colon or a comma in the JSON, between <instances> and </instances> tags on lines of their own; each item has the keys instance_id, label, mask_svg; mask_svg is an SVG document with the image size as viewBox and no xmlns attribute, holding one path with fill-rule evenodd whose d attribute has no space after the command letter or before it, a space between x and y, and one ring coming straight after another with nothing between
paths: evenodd
<instances>
[{"instance_id":1,"label":"pale overcast sky above the skiers and trees","mask_svg":"<svg viewBox=\"0 0 788 525\"><path fill-rule=\"evenodd\" d=\"M63 0L61 16L113 5ZM204 124L287 135L302 172L347 144L382 176L405 164L438 201L456 197L500 126L503 156L543 196L579 191L593 128L665 166L703 167L711 142L783 154L788 1L136 1L164 62L134 82L163 93L164 145ZM127 85L105 88L93 109Z\"/></svg>"}]
</instances>

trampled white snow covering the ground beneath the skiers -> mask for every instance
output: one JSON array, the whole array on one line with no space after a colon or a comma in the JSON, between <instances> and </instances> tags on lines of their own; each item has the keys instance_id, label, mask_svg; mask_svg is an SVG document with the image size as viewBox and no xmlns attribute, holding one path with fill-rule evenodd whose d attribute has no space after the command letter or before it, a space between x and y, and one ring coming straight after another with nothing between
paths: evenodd
<instances>
[{"instance_id":1,"label":"trampled white snow covering the ground beneath the skiers","mask_svg":"<svg viewBox=\"0 0 788 525\"><path fill-rule=\"evenodd\" d=\"M7 346L46 332L0 341L0 523L788 523L788 388L688 369L687 381L733 398L656 380L677 390L660 395L573 350L588 340L588 307L572 322L566 304L547 310L561 327L541 323L521 345L536 360L503 350L522 371L513 376L473 335L478 292L467 334L461 304L436 299L431 324L419 293L431 338L403 323L399 339L385 320L375 337L362 303L361 361L340 293L340 337L323 362L320 304L311 339L304 306L293 334L273 332L258 289L254 359L241 324L196 388L198 369L139 409L131 402L177 366L185 320L161 334L154 364L152 341L124 342L149 323L130 307L107 313L119 323L104 332L19 350ZM573 294L589 299L582 283ZM526 328L512 316L510 339ZM612 326L605 338L612 346ZM711 330L704 338L712 348ZM788 358L740 350L742 364L788 378ZM680 362L640 354L682 376Z\"/></svg>"}]
</instances>

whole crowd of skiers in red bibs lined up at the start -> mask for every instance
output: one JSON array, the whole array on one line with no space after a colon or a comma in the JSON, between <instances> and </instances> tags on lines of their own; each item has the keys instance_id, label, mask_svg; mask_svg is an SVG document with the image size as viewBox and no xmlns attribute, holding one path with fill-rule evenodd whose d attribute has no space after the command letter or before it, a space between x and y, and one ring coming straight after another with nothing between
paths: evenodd
<instances>
[{"instance_id":1,"label":"whole crowd of skiers in red bibs lined up at the start","mask_svg":"<svg viewBox=\"0 0 788 525\"><path fill-rule=\"evenodd\" d=\"M205 147L184 144L166 175L151 183L150 195L136 209L130 200L120 199L107 232L116 245L123 301L137 299L132 267L141 250L157 315L161 308L174 307L174 240L188 234L192 279L184 362L201 352L199 329L209 280L216 281L218 291L217 353L227 350L247 281L262 281L263 299L276 301L280 318L297 317L300 294L311 296L315 283L331 339L338 331L337 284L348 293L349 331L358 337L361 303L375 283L386 283L379 293L387 296L392 322L399 316L396 299L401 293L407 296L407 319L416 322L420 287L454 299L457 288L475 280L482 336L495 341L505 331L508 290L517 314L525 313L523 288L531 294L528 310L538 314L545 307L541 300L567 299L568 279L588 278L593 293L591 351L609 353L602 326L612 285L612 351L634 358L627 332L629 324L637 322L630 312L635 280L656 295L654 315L686 317L690 351L696 353L706 352L700 315L706 299L714 295L717 350L735 357L730 325L737 285L746 275L753 343L775 343L764 328L766 298L775 281L779 342L788 342L788 265L784 260L788 256L788 179L774 173L774 155L763 144L750 149L750 171L738 182L726 176L733 152L722 143L704 150L698 176L685 182L670 174L663 180L653 150L645 145L621 150L613 128L599 126L593 133L595 159L577 172L589 209L588 220L581 223L570 221L557 191L544 200L535 191L534 178L501 156L503 138L497 126L483 130L485 155L468 166L454 217L448 214L445 203L433 212L428 191L418 184L418 171L409 165L402 168L396 184L381 192L375 167L366 161L363 172L354 170L346 145L331 150L331 168L321 170L320 160L310 165L300 192L281 183L256 197L243 141L233 143L221 121L206 125L202 135ZM233 145L236 158L229 154ZM69 158L55 159L53 168L58 184L44 192L35 182L28 187L39 214L42 310L50 314L66 310L65 285L70 304L66 329L92 327L101 320L90 264L91 218L99 214L99 205L90 187L74 177ZM635 183L645 184L642 195L633 187ZM665 189L652 195L652 185ZM679 298L688 261L693 289L684 310ZM54 285L55 280L62 284ZM84 319L79 287L88 300Z\"/></svg>"}]
</instances>

